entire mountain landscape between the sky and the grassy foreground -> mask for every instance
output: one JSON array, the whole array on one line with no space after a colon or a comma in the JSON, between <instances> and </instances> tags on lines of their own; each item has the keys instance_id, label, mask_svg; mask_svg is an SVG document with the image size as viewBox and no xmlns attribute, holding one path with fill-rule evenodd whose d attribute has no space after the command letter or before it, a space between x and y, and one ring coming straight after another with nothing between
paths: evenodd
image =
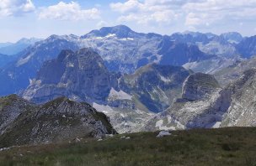
<instances>
[{"instance_id":1,"label":"entire mountain landscape between the sky and the grassy foreground","mask_svg":"<svg viewBox=\"0 0 256 166\"><path fill-rule=\"evenodd\" d=\"M118 25L1 45L0 148L256 126L256 36Z\"/></svg>"}]
</instances>

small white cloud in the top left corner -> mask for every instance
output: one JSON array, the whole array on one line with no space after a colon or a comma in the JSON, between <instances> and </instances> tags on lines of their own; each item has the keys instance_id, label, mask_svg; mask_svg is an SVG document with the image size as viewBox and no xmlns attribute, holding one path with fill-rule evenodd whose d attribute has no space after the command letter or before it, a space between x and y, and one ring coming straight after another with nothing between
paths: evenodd
<instances>
[{"instance_id":1,"label":"small white cloud in the top left corner","mask_svg":"<svg viewBox=\"0 0 256 166\"><path fill-rule=\"evenodd\" d=\"M35 10L31 0L1 0L0 17L21 16Z\"/></svg>"}]
</instances>

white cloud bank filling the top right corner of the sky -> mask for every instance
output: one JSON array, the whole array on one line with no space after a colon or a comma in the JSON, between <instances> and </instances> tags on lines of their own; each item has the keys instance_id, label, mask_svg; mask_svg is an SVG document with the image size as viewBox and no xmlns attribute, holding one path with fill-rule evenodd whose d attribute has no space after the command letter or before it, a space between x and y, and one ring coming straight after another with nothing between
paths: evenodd
<instances>
[{"instance_id":1,"label":"white cloud bank filling the top right corner of the sky","mask_svg":"<svg viewBox=\"0 0 256 166\"><path fill-rule=\"evenodd\" d=\"M225 23L227 20L246 20L256 17L255 0L204 0L182 7L187 14L185 25L201 26Z\"/></svg>"}]
</instances>

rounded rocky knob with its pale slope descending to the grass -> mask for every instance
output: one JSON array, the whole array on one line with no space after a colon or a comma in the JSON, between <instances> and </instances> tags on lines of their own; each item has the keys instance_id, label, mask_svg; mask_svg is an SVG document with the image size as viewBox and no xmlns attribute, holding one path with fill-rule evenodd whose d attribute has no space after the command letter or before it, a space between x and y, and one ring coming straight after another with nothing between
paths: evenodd
<instances>
[{"instance_id":1,"label":"rounded rocky knob with its pale slope descending to the grass","mask_svg":"<svg viewBox=\"0 0 256 166\"><path fill-rule=\"evenodd\" d=\"M212 75L196 73L184 81L182 97L147 122L145 130L216 127L225 112L212 109L221 91Z\"/></svg>"}]
</instances>

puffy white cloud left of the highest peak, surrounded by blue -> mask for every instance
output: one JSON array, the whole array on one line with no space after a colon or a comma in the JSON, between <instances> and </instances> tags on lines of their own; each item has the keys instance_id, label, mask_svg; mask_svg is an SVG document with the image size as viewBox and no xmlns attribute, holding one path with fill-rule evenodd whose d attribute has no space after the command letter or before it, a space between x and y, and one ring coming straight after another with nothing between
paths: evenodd
<instances>
[{"instance_id":1,"label":"puffy white cloud left of the highest peak, surrounded by blue","mask_svg":"<svg viewBox=\"0 0 256 166\"><path fill-rule=\"evenodd\" d=\"M79 3L63 3L42 9L39 18L51 18L57 20L88 20L99 19L100 11L97 8L82 9Z\"/></svg>"}]
</instances>

